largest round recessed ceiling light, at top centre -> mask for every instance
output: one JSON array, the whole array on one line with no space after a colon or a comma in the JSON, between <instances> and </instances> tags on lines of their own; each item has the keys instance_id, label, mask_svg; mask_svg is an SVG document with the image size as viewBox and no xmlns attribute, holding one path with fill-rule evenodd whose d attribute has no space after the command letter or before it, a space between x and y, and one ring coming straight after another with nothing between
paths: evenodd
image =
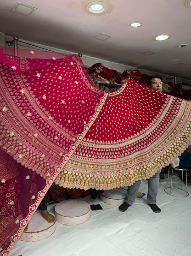
<instances>
[{"instance_id":1,"label":"largest round recessed ceiling light, at top centre","mask_svg":"<svg viewBox=\"0 0 191 256\"><path fill-rule=\"evenodd\" d=\"M87 12L91 14L102 15L104 13L111 12L112 8L107 0L104 1L91 1L85 5Z\"/></svg>"}]
</instances>

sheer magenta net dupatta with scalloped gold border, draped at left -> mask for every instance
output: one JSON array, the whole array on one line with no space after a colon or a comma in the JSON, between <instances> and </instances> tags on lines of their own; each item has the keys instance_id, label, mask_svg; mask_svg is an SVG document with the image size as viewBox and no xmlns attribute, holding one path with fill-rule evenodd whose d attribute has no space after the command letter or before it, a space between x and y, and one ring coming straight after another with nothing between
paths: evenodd
<instances>
[{"instance_id":1,"label":"sheer magenta net dupatta with scalloped gold border, draped at left","mask_svg":"<svg viewBox=\"0 0 191 256\"><path fill-rule=\"evenodd\" d=\"M15 56L13 48L0 48L1 255L21 235L106 97L75 54L17 49Z\"/></svg>"}]
</instances>

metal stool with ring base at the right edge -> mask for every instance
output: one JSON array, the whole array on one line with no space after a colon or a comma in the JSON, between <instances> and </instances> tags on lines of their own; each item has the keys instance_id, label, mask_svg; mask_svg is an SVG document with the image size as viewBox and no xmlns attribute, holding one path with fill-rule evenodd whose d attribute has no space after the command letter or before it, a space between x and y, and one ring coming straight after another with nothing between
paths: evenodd
<instances>
[{"instance_id":1,"label":"metal stool with ring base at the right edge","mask_svg":"<svg viewBox=\"0 0 191 256\"><path fill-rule=\"evenodd\" d=\"M176 196L176 197L185 197L188 196L188 192L187 192L187 167L169 167L169 172L171 170L171 182L170 182L170 187L167 187L164 189L164 191L171 195L171 196ZM174 187L173 186L173 171L181 171L182 172L182 179L181 179L181 188L180 187ZM168 172L168 180L167 180L167 186L169 185L169 172ZM186 172L186 180L185 180L185 190L183 189L183 173ZM177 192L179 190L179 192ZM184 195L180 196L180 192L184 191ZM178 195L179 194L179 195Z\"/></svg>"}]
</instances>

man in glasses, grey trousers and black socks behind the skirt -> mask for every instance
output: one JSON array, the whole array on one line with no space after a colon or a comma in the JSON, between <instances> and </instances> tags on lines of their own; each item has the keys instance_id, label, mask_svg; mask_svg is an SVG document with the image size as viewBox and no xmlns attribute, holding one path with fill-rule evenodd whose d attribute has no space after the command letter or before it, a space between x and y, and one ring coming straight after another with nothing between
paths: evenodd
<instances>
[{"instance_id":1,"label":"man in glasses, grey trousers and black socks behind the skirt","mask_svg":"<svg viewBox=\"0 0 191 256\"><path fill-rule=\"evenodd\" d=\"M154 90L157 90L160 92L163 91L162 77L159 77L159 76L149 77L147 85ZM153 212L155 213L161 212L161 209L156 204L160 172L161 172L161 169L159 169L157 173L155 173L155 175L153 175L150 179L148 179L148 193L147 193L148 205L152 208ZM135 181L133 185L128 187L127 194L124 199L124 203L119 206L119 211L121 212L126 211L128 207L131 206L133 202L135 202L135 197L137 195L139 187L140 187L140 180Z\"/></svg>"}]
</instances>

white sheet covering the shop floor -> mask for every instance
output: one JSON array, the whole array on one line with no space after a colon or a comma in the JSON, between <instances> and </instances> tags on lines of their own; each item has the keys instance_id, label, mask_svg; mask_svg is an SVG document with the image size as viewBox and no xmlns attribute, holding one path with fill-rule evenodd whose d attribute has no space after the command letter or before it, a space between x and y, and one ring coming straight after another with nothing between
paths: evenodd
<instances>
[{"instance_id":1,"label":"white sheet covering the shop floor","mask_svg":"<svg viewBox=\"0 0 191 256\"><path fill-rule=\"evenodd\" d=\"M147 204L146 180L139 189L146 196L136 198L125 212L88 195L80 199L103 208L91 211L88 221L75 226L57 222L49 238L18 241L9 256L191 256L191 186L187 186L189 196L171 196L164 191L167 176L160 179L157 195L161 213L152 212ZM176 174L173 179L181 186ZM54 212L55 206L48 210Z\"/></svg>"}]
</instances>

